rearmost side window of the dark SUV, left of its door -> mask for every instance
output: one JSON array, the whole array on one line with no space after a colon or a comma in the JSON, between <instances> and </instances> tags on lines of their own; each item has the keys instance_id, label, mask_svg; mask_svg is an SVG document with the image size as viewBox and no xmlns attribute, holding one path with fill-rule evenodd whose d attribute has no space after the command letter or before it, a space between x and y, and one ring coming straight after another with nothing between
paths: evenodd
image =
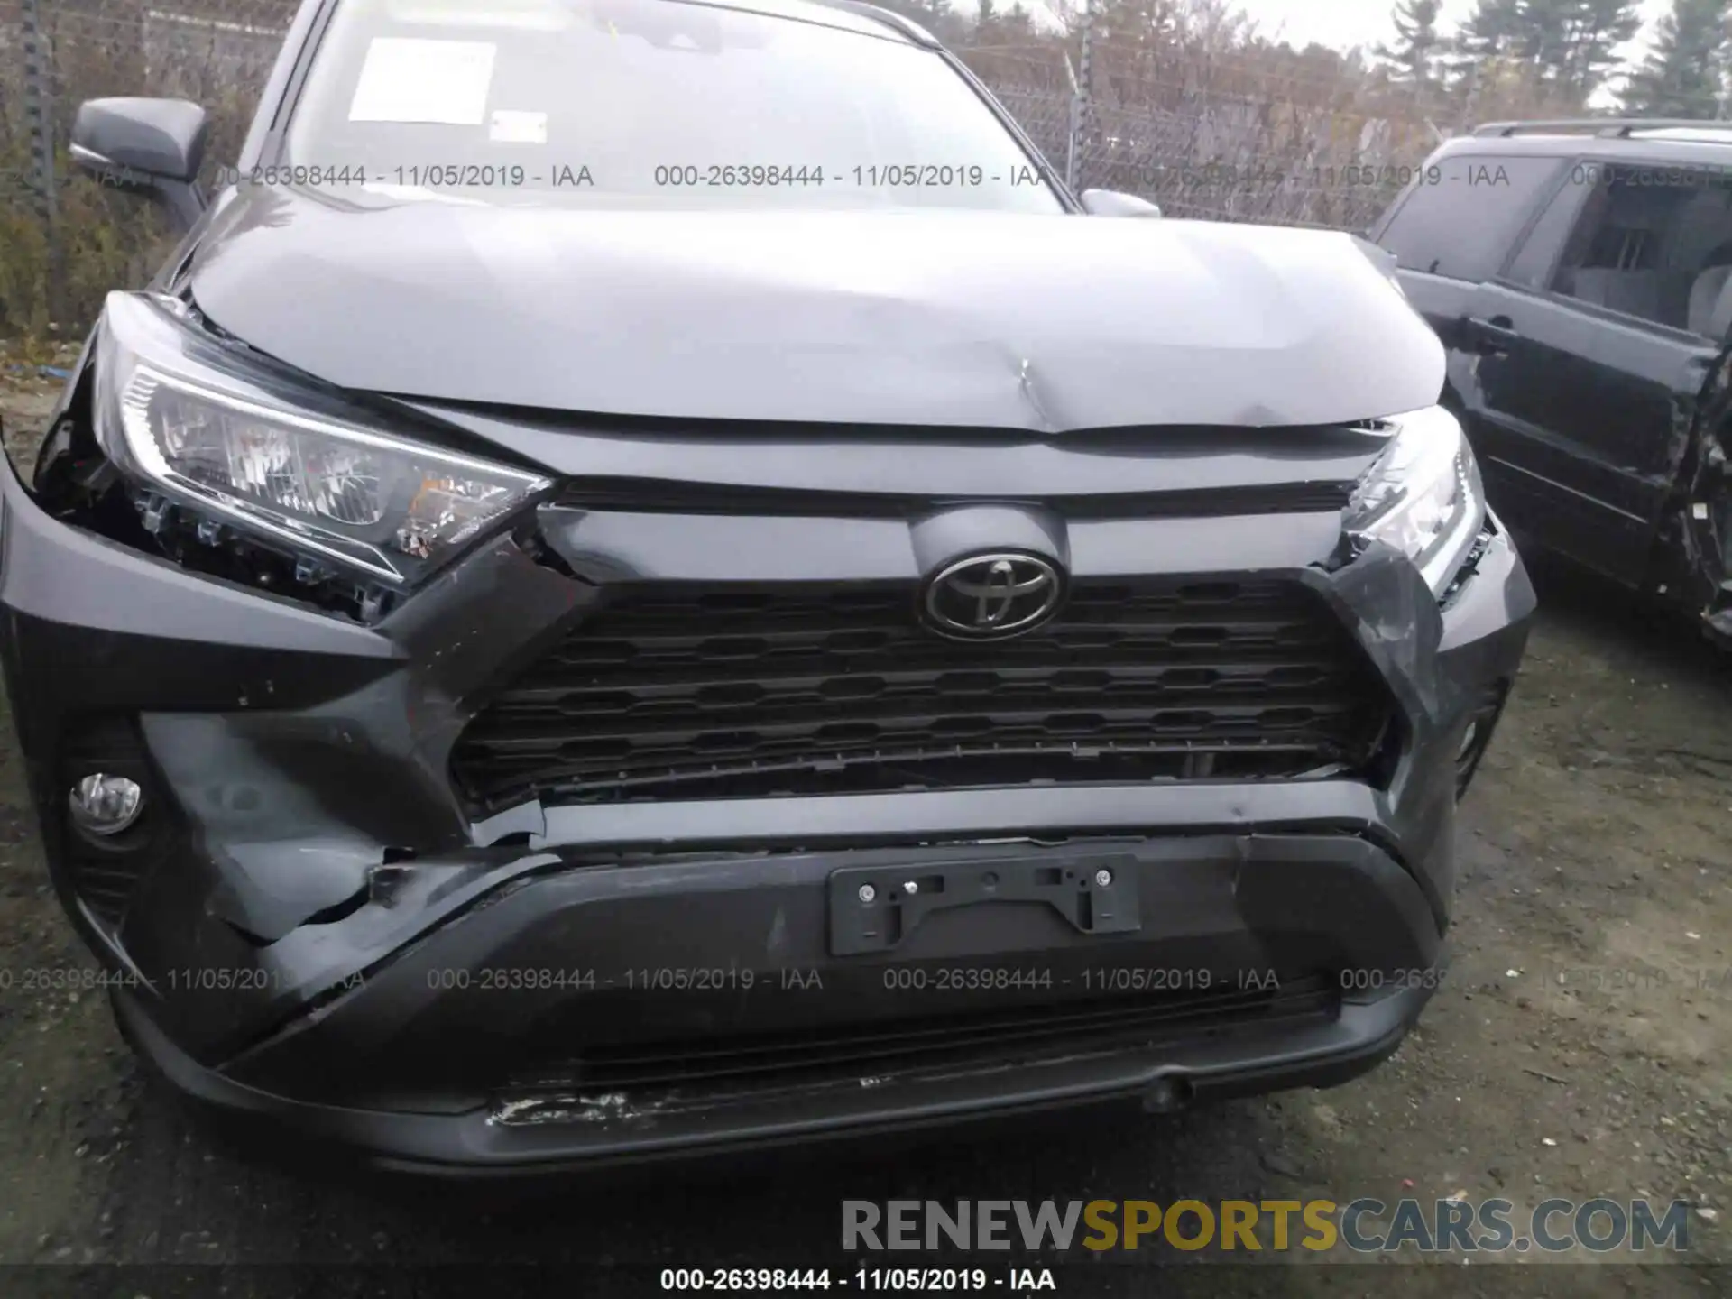
<instances>
[{"instance_id":1,"label":"rearmost side window of the dark SUV, left of its door","mask_svg":"<svg viewBox=\"0 0 1732 1299\"><path fill-rule=\"evenodd\" d=\"M1562 158L1455 154L1425 166L1377 242L1405 270L1491 279Z\"/></svg>"}]
</instances>

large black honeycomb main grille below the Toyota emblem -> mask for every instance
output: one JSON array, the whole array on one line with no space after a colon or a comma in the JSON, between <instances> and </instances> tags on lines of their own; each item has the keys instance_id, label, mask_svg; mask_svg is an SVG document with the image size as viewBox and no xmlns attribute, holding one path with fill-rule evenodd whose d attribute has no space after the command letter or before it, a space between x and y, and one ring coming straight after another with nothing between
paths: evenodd
<instances>
[{"instance_id":1,"label":"large black honeycomb main grille below the Toyota emblem","mask_svg":"<svg viewBox=\"0 0 1732 1299\"><path fill-rule=\"evenodd\" d=\"M928 632L911 584L606 592L454 752L483 809L1252 779L1370 760L1387 695L1316 592L1077 580L1010 641Z\"/></svg>"}]
</instances>

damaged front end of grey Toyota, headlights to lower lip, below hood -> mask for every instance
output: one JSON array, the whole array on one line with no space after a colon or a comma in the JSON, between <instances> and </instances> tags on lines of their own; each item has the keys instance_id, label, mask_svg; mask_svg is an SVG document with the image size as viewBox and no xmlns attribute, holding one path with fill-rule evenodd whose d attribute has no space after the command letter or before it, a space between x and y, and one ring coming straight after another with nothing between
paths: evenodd
<instances>
[{"instance_id":1,"label":"damaged front end of grey Toyota, headlights to lower lip, below hood","mask_svg":"<svg viewBox=\"0 0 1732 1299\"><path fill-rule=\"evenodd\" d=\"M1533 610L1446 412L854 431L800 461L824 490L533 423L114 294L33 487L3 471L54 883L184 1091L513 1171L1166 1108L1399 1043ZM906 499L850 457L913 464ZM954 490L1029 459L1043 492ZM918 625L1001 547L1065 573L1050 629ZM1102 944L1190 982L1105 982Z\"/></svg>"}]
</instances>

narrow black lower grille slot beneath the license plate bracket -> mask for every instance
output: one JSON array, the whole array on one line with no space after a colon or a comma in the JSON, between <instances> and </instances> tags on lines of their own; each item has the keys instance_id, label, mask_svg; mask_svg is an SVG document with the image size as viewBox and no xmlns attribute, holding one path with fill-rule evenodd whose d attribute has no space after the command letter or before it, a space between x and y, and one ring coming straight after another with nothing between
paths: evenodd
<instances>
[{"instance_id":1,"label":"narrow black lower grille slot beneath the license plate bracket","mask_svg":"<svg viewBox=\"0 0 1732 1299\"><path fill-rule=\"evenodd\" d=\"M688 1102L779 1088L859 1086L863 1077L925 1070L966 1072L1079 1055L1134 1051L1200 1036L1327 1020L1339 1011L1335 980L1282 979L1263 991L1218 987L1089 998L1010 1010L973 1010L914 1020L800 1029L774 1034L681 1037L592 1046L520 1070L506 1086L523 1115L537 1091L627 1093Z\"/></svg>"}]
</instances>

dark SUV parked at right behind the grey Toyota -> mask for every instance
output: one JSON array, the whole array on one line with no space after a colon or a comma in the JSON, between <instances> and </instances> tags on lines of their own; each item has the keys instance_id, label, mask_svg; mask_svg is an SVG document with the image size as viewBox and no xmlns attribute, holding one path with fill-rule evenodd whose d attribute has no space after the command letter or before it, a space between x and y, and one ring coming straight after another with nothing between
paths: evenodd
<instances>
[{"instance_id":1,"label":"dark SUV parked at right behind the grey Toyota","mask_svg":"<svg viewBox=\"0 0 1732 1299\"><path fill-rule=\"evenodd\" d=\"M1732 641L1727 123L1490 123L1370 234L1448 348L1500 516Z\"/></svg>"}]
</instances>

